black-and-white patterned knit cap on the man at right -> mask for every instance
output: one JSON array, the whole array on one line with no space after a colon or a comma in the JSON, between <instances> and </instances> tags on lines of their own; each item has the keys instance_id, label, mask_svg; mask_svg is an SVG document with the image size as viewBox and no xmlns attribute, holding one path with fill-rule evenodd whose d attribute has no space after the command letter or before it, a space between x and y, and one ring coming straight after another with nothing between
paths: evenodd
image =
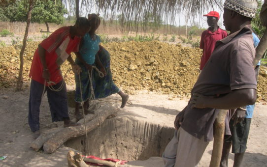
<instances>
[{"instance_id":1,"label":"black-and-white patterned knit cap on the man at right","mask_svg":"<svg viewBox=\"0 0 267 167\"><path fill-rule=\"evenodd\" d=\"M234 10L240 15L254 18L258 3L256 0L226 0L224 7L229 10Z\"/></svg>"}]
</instances>

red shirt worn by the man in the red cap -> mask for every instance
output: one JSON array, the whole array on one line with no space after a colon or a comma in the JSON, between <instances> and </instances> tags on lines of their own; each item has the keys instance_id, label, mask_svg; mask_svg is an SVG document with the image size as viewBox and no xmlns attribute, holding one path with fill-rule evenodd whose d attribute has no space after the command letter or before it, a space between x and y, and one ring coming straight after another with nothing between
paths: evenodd
<instances>
[{"instance_id":1,"label":"red shirt worn by the man in the red cap","mask_svg":"<svg viewBox=\"0 0 267 167\"><path fill-rule=\"evenodd\" d=\"M215 43L227 36L227 32L218 28L217 31L211 32L209 29L205 30L201 34L200 49L203 49L203 54L200 61L200 70L203 69L209 57L211 56Z\"/></svg>"}]
</instances>

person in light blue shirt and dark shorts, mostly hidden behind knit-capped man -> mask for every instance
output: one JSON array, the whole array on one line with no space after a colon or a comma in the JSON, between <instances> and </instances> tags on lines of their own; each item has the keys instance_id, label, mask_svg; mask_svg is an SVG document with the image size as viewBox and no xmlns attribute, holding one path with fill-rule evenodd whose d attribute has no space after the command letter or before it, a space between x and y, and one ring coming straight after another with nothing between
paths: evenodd
<instances>
[{"instance_id":1,"label":"person in light blue shirt and dark shorts, mostly hidden behind knit-capped man","mask_svg":"<svg viewBox=\"0 0 267 167\"><path fill-rule=\"evenodd\" d=\"M254 32L252 33L252 35L253 35L254 47L256 48L260 43L260 39ZM258 78L260 64L261 62L259 62L255 67L256 80ZM246 146L247 139L249 135L250 123L254 108L255 104L246 106L246 108L243 111L240 110L236 111L233 118L230 120L229 126L232 136L224 140L220 167L228 167L228 156L230 153L231 145L232 145L232 153L234 154L233 167L241 166L243 156L247 148Z\"/></svg>"}]
</instances>

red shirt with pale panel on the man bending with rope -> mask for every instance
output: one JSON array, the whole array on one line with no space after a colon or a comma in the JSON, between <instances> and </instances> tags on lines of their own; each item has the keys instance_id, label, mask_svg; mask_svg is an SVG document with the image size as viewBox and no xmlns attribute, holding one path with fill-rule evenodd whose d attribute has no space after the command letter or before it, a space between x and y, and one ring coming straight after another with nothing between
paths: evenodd
<instances>
[{"instance_id":1,"label":"red shirt with pale panel on the man bending with rope","mask_svg":"<svg viewBox=\"0 0 267 167\"><path fill-rule=\"evenodd\" d=\"M62 27L44 39L39 45L45 50L46 65L50 73L50 81L59 83L62 81L60 65L67 59L71 52L78 52L81 38L69 33L70 27ZM44 83L42 77L43 65L40 61L38 48L33 56L30 77L39 83Z\"/></svg>"}]
</instances>

